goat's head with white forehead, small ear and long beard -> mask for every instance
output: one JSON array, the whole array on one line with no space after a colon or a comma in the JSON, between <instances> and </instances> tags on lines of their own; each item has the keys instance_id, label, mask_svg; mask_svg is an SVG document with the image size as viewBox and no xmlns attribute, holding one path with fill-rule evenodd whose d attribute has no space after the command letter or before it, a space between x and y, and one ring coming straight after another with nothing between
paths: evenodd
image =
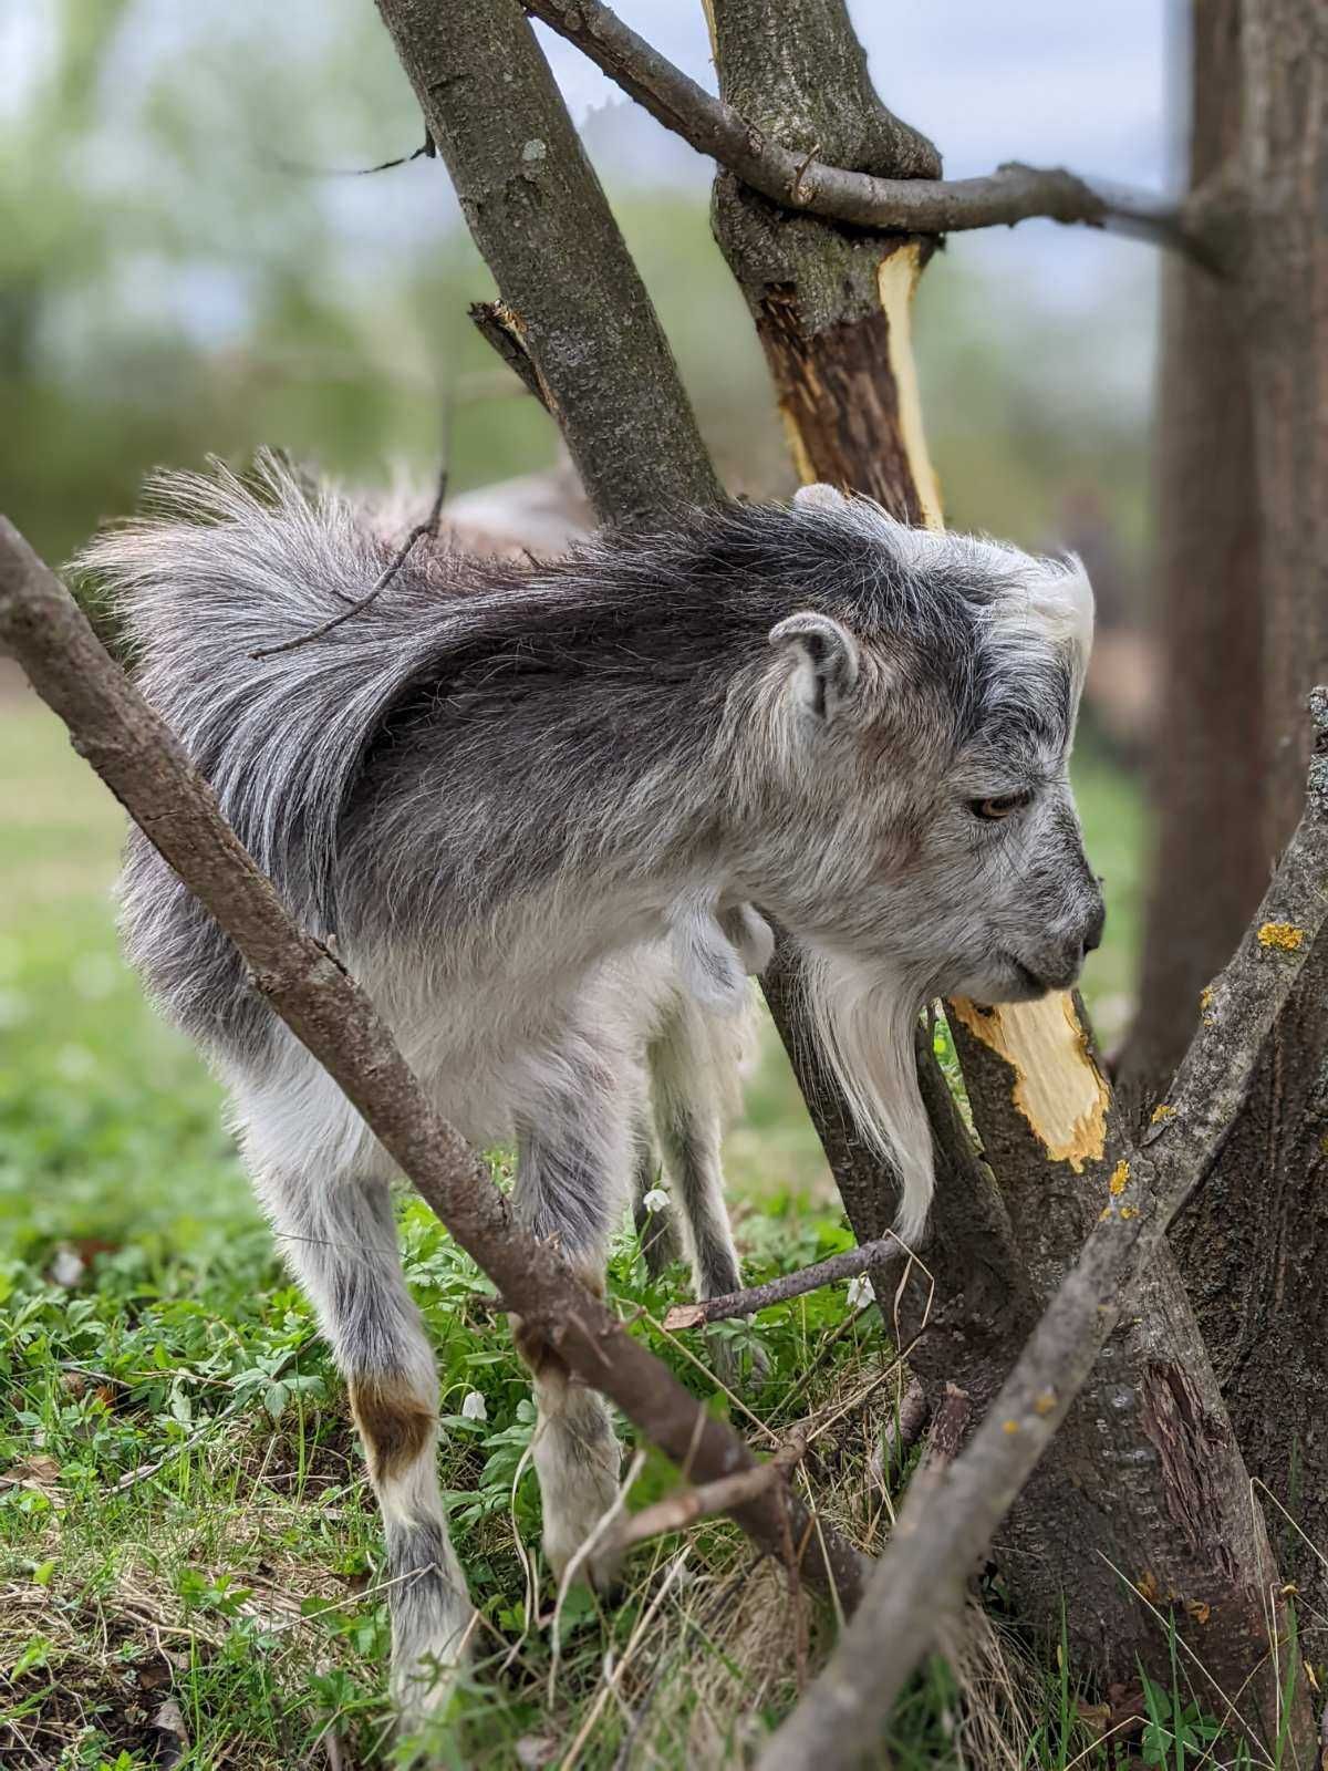
<instances>
[{"instance_id":1,"label":"goat's head with white forehead, small ear and long beard","mask_svg":"<svg viewBox=\"0 0 1328 1771\"><path fill-rule=\"evenodd\" d=\"M788 522L779 592L800 606L745 701L753 896L807 949L859 1118L914 1146L930 1194L924 1121L898 1123L921 1114L919 1008L1066 988L1101 935L1066 772L1093 592L1077 560L910 530L829 487ZM919 1206L921 1181L907 1227Z\"/></svg>"}]
</instances>

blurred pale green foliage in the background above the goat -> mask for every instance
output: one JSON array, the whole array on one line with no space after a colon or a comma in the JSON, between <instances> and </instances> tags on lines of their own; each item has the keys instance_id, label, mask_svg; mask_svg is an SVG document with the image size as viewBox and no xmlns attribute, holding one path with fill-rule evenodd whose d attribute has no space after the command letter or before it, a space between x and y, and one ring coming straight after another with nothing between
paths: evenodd
<instances>
[{"instance_id":1,"label":"blurred pale green foliage in the background above the goat","mask_svg":"<svg viewBox=\"0 0 1328 1771\"><path fill-rule=\"evenodd\" d=\"M351 0L62 0L0 21L0 508L51 558L133 508L143 473L259 445L453 489L552 459L549 420L475 333L492 294L372 9ZM591 119L600 163L728 482L790 468L705 193L641 188L639 117ZM627 166L636 184L616 177ZM338 174L338 175L333 175ZM1091 489L1137 551L1139 400L1119 338L1146 260L1073 315L981 275L963 241L919 303L951 519L1045 544ZM1075 524L1069 522L1073 528Z\"/></svg>"}]
</instances>

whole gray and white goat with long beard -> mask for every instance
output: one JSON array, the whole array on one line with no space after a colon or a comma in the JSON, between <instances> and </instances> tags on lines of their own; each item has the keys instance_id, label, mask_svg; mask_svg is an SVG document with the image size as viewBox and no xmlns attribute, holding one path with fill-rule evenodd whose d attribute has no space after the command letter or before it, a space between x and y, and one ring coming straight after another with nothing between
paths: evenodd
<instances>
[{"instance_id":1,"label":"whole gray and white goat with long beard","mask_svg":"<svg viewBox=\"0 0 1328 1771\"><path fill-rule=\"evenodd\" d=\"M903 528L809 487L685 512L551 565L391 545L269 460L158 480L87 565L138 684L289 909L335 937L437 1105L517 1148L515 1203L600 1286L652 1135L696 1286L738 1286L719 1142L765 917L806 960L861 1132L921 1234L928 999L1038 997L1101 930L1066 779L1093 627L1077 561ZM127 947L207 1052L345 1373L382 1509L393 1682L437 1707L471 1628L436 1475L436 1373L390 1164L131 832ZM758 907L758 909L753 909ZM554 1571L614 1495L606 1404L517 1326ZM588 1562L604 1583L609 1569Z\"/></svg>"}]
</instances>

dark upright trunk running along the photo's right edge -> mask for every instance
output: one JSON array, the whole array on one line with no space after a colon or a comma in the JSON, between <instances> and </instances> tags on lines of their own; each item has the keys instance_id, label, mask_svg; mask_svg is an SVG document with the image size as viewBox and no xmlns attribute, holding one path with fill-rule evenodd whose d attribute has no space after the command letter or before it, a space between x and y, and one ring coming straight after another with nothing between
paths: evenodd
<instances>
[{"instance_id":1,"label":"dark upright trunk running along the photo's right edge","mask_svg":"<svg viewBox=\"0 0 1328 1771\"><path fill-rule=\"evenodd\" d=\"M1316 673L1328 671L1328 14L1321 0L1247 0L1239 48L1236 182L1248 236L1234 260L1234 301L1254 416L1254 483L1245 498L1261 517L1268 862L1294 820L1298 710ZM1247 1110L1177 1224L1174 1245L1247 1463L1305 1532L1301 1539L1278 1527L1284 1567L1321 1613L1328 1605L1319 1560L1328 1544L1326 955L1307 965Z\"/></svg>"}]
</instances>

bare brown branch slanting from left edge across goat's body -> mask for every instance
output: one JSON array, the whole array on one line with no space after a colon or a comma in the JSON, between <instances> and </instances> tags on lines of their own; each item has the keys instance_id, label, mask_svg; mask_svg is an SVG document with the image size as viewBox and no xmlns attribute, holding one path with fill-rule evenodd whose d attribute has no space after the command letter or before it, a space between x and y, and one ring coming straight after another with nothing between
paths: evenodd
<instances>
[{"instance_id":1,"label":"bare brown branch slanting from left edge across goat's body","mask_svg":"<svg viewBox=\"0 0 1328 1771\"><path fill-rule=\"evenodd\" d=\"M239 947L255 986L319 1059L397 1165L506 1303L699 1482L756 1468L742 1440L575 1279L521 1231L478 1156L432 1109L388 1025L333 953L292 923L221 816L179 740L129 684L60 579L0 517L0 655L18 659L129 816ZM791 1521L804 1578L845 1610L862 1560L791 1493L761 1489L731 1516L772 1555Z\"/></svg>"}]
</instances>

